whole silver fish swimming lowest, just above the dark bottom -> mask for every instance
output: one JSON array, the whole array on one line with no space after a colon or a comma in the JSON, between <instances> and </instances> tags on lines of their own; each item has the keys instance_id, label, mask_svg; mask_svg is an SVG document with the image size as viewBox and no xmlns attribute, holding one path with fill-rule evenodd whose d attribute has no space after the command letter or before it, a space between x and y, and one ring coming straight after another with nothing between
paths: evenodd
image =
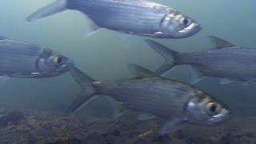
<instances>
[{"instance_id":1,"label":"whole silver fish swimming lowest, just above the dark bottom","mask_svg":"<svg viewBox=\"0 0 256 144\"><path fill-rule=\"evenodd\" d=\"M137 65L128 66L136 76L113 82L98 82L82 71L71 68L70 73L84 88L66 110L73 113L90 102L95 95L113 98L115 107L140 112L142 119L165 118L166 124L159 134L168 134L183 122L215 125L230 118L230 110L202 90L182 82L156 76L150 70ZM120 116L122 113L116 113ZM139 116L138 116L139 118Z\"/></svg>"}]
</instances>

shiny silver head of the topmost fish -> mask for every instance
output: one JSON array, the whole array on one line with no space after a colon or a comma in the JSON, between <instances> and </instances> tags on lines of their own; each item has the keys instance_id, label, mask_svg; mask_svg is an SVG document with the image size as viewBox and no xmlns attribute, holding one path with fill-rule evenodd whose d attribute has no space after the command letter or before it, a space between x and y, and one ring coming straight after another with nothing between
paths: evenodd
<instances>
[{"instance_id":1,"label":"shiny silver head of the topmost fish","mask_svg":"<svg viewBox=\"0 0 256 144\"><path fill-rule=\"evenodd\" d=\"M162 34L166 34L170 38L187 38L202 29L192 18L174 10L170 10L170 13L166 14L160 26Z\"/></svg>"}]
</instances>

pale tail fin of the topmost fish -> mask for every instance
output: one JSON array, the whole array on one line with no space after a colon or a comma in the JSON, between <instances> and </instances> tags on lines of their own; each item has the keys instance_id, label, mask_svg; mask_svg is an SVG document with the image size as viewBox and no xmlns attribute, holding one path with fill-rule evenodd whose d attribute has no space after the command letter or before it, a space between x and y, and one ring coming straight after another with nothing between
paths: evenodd
<instances>
[{"instance_id":1,"label":"pale tail fin of the topmost fish","mask_svg":"<svg viewBox=\"0 0 256 144\"><path fill-rule=\"evenodd\" d=\"M28 22L38 20L40 18L48 17L52 14L56 14L66 10L66 4L68 0L57 0L54 3L51 3L45 7L42 7L40 10L34 12L29 17L26 18Z\"/></svg>"}]
</instances>

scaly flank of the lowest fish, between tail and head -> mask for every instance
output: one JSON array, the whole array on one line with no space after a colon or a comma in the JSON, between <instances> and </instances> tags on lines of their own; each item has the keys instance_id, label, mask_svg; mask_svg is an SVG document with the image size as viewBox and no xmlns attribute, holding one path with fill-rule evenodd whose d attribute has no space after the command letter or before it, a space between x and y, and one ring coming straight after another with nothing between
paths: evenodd
<instances>
[{"instance_id":1,"label":"scaly flank of the lowest fish, between tail and head","mask_svg":"<svg viewBox=\"0 0 256 144\"><path fill-rule=\"evenodd\" d=\"M165 78L94 82L98 94L110 95L130 110L161 118L185 119L186 105L196 95L192 86Z\"/></svg>"}]
</instances>

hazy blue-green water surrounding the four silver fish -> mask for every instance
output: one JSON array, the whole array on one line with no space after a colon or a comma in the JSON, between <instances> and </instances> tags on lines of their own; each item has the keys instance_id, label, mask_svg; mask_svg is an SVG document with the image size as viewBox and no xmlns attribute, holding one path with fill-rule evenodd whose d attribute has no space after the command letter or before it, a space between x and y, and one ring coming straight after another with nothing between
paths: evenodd
<instances>
[{"instance_id":1,"label":"hazy blue-green water surrounding the four silver fish","mask_svg":"<svg viewBox=\"0 0 256 144\"><path fill-rule=\"evenodd\" d=\"M79 69L97 80L130 78L126 65L134 63L156 70L163 58L135 35L99 30L85 38L89 20L78 11L66 10L40 22L26 22L26 17L54 0L2 0L0 35L49 47L73 60ZM196 20L202 30L190 38L154 39L181 52L213 48L208 35L226 39L237 46L256 47L254 1L238 0L158 0ZM190 72L178 66L168 78L187 81ZM256 85L242 82L220 85L218 78L206 78L196 85L220 99L235 115L255 115ZM57 110L70 104L79 87L69 73L55 78L10 78L0 84L0 102L5 106L28 110ZM97 109L102 109L98 103Z\"/></svg>"}]
</instances>

